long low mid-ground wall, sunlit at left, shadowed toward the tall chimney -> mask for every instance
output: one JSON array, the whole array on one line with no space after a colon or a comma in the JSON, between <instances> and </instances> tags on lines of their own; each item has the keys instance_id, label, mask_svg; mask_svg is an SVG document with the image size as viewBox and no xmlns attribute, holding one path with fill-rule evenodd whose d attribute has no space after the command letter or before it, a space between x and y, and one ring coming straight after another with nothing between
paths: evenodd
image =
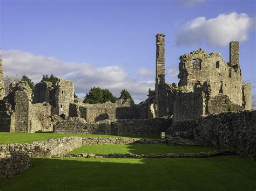
<instances>
[{"instance_id":1,"label":"long low mid-ground wall, sunlit at left, shadowed toward the tall chimney","mask_svg":"<svg viewBox=\"0 0 256 191\"><path fill-rule=\"evenodd\" d=\"M55 133L80 133L98 135L160 135L172 123L172 119L118 119L87 123L78 117L68 118L55 126Z\"/></svg>"}]
</instances>

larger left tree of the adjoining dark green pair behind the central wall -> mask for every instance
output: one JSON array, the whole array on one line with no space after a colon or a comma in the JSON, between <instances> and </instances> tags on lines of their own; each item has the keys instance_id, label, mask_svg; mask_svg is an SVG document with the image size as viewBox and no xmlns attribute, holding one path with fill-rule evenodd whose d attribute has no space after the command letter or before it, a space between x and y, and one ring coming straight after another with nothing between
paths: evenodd
<instances>
[{"instance_id":1,"label":"larger left tree of the adjoining dark green pair behind the central wall","mask_svg":"<svg viewBox=\"0 0 256 191\"><path fill-rule=\"evenodd\" d=\"M91 88L91 90L89 91L89 93L85 95L84 97L84 103L103 103L103 93L102 93L102 89L100 89L99 87L93 87Z\"/></svg>"}]
</instances>

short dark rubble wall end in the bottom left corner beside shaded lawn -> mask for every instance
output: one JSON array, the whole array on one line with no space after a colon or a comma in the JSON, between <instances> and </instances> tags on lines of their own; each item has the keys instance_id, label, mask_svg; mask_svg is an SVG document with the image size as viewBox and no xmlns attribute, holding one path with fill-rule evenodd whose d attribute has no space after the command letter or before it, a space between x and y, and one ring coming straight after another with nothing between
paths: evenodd
<instances>
[{"instance_id":1,"label":"short dark rubble wall end in the bottom left corner beside shaded lawn","mask_svg":"<svg viewBox=\"0 0 256 191\"><path fill-rule=\"evenodd\" d=\"M17 152L0 152L0 181L31 168L29 155Z\"/></svg>"}]
</instances>

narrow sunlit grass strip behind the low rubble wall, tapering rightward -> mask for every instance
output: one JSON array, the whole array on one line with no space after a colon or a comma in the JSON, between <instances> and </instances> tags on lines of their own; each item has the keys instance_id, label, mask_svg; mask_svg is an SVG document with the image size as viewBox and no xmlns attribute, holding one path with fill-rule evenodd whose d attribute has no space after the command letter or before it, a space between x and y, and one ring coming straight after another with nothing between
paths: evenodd
<instances>
[{"instance_id":1,"label":"narrow sunlit grass strip behind the low rubble wall, tapering rightward","mask_svg":"<svg viewBox=\"0 0 256 191\"><path fill-rule=\"evenodd\" d=\"M116 138L159 138L159 136L112 136L112 135L85 135L85 134L57 134L57 133L10 133L0 132L0 144L32 143L38 140L62 137L116 137Z\"/></svg>"}]
</instances>

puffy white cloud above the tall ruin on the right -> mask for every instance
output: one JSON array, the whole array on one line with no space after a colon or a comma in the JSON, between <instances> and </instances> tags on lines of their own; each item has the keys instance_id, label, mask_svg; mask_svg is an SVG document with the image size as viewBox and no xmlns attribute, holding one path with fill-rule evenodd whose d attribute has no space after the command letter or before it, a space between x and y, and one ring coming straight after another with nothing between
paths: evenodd
<instances>
[{"instance_id":1,"label":"puffy white cloud above the tall ruin on the right","mask_svg":"<svg viewBox=\"0 0 256 191\"><path fill-rule=\"evenodd\" d=\"M216 18L197 17L181 27L177 45L195 45L205 41L208 45L227 46L230 41L246 41L248 32L255 30L255 18L246 13L220 14Z\"/></svg>"}]
</instances>

